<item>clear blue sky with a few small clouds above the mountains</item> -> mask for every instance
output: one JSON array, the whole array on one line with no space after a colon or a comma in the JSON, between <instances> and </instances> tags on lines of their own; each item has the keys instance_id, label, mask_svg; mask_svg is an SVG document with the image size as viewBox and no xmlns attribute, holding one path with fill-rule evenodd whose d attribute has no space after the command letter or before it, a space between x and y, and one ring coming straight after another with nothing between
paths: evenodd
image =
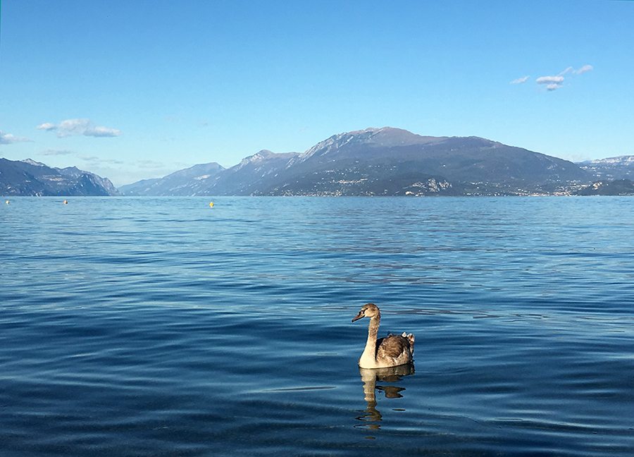
<instances>
[{"instance_id":1,"label":"clear blue sky with a few small clouds above the mountains","mask_svg":"<svg viewBox=\"0 0 634 457\"><path fill-rule=\"evenodd\" d=\"M0 157L116 186L390 126L634 154L634 1L2 0Z\"/></svg>"}]
</instances>

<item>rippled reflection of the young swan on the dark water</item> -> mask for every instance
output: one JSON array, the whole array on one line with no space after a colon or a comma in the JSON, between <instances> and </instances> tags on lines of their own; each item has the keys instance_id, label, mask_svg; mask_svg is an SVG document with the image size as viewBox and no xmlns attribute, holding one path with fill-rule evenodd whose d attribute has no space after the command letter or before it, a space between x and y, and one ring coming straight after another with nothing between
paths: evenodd
<instances>
[{"instance_id":1,"label":"rippled reflection of the young swan on the dark water","mask_svg":"<svg viewBox=\"0 0 634 457\"><path fill-rule=\"evenodd\" d=\"M381 413L376 409L376 391L383 392L385 398L401 398L401 392L405 390L404 387L397 385L378 385L377 382L395 383L402 381L402 377L414 374L414 363L406 363L405 365L399 365L397 367L387 368L361 368L359 367L359 373L361 374L361 381L363 381L363 395L368 402L368 408L363 411L363 415L357 417L357 420L364 422L380 422L382 419ZM356 427L356 426L355 426ZM379 429L378 423L368 423L363 425L369 429Z\"/></svg>"}]
</instances>

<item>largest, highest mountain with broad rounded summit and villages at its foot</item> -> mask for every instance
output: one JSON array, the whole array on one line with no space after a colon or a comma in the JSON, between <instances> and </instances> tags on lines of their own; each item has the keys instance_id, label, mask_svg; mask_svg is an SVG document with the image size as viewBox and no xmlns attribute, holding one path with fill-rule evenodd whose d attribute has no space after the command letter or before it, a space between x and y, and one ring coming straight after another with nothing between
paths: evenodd
<instances>
[{"instance_id":1,"label":"largest, highest mountain with broad rounded summit and villages at its foot","mask_svg":"<svg viewBox=\"0 0 634 457\"><path fill-rule=\"evenodd\" d=\"M169 195L530 195L591 182L577 164L520 147L385 127L333 135L303 154L263 150Z\"/></svg>"}]
</instances>

